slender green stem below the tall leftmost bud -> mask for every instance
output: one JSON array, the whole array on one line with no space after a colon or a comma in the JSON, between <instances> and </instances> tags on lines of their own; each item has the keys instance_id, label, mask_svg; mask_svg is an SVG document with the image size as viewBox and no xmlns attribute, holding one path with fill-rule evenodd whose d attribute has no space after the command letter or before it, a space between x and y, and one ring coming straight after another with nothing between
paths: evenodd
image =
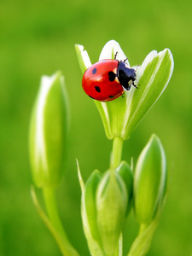
<instances>
[{"instance_id":1,"label":"slender green stem below the tall leftmost bud","mask_svg":"<svg viewBox=\"0 0 192 256\"><path fill-rule=\"evenodd\" d=\"M61 224L61 219L56 207L54 189L44 188L44 201L50 222L63 241L62 246L60 245L62 254L65 256L79 256L79 253L77 253L70 241L68 241L65 230Z\"/></svg>"}]
</instances>

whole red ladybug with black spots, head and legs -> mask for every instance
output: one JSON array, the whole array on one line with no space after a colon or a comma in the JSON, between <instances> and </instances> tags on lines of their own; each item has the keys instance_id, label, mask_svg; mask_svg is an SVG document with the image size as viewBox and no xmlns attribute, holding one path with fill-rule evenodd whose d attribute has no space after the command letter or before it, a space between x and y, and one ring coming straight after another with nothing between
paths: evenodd
<instances>
[{"instance_id":1,"label":"whole red ladybug with black spots, head and legs","mask_svg":"<svg viewBox=\"0 0 192 256\"><path fill-rule=\"evenodd\" d=\"M106 59L90 66L82 79L84 92L92 99L100 102L110 102L130 90L131 85L137 88L136 70L128 67L124 61Z\"/></svg>"}]
</instances>

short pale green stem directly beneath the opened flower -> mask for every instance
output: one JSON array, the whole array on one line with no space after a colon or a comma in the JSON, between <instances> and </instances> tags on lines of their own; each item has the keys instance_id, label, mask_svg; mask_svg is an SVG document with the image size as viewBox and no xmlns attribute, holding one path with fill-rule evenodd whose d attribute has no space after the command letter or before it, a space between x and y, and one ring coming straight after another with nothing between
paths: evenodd
<instances>
[{"instance_id":1,"label":"short pale green stem directly beneath the opened flower","mask_svg":"<svg viewBox=\"0 0 192 256\"><path fill-rule=\"evenodd\" d=\"M113 138L113 151L111 157L111 170L114 170L119 166L121 161L122 149L123 149L123 139L121 137Z\"/></svg>"}]
</instances>

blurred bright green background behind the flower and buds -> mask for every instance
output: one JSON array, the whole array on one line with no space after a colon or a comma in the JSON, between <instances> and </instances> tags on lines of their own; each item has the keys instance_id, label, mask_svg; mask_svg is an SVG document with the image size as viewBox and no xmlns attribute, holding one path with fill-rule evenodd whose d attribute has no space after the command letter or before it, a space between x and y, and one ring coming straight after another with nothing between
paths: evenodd
<instances>
[{"instance_id":1,"label":"blurred bright green background behind the flower and buds","mask_svg":"<svg viewBox=\"0 0 192 256\"><path fill-rule=\"evenodd\" d=\"M74 44L83 44L92 63L104 44L119 42L131 65L153 49L169 48L175 61L170 84L129 141L130 162L152 133L166 150L172 187L148 255L192 255L192 2L0 1L0 255L61 255L32 205L28 125L40 77L61 70L71 102L71 145L57 197L67 234L81 255L89 255L80 218L75 158L84 180L108 168L108 141L94 102L81 88ZM125 251L137 234L131 214Z\"/></svg>"}]
</instances>

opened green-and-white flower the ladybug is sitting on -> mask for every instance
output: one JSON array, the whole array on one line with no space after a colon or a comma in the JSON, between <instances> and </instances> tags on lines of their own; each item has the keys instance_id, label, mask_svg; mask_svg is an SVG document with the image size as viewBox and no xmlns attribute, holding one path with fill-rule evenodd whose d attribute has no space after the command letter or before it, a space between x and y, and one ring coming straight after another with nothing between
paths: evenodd
<instances>
[{"instance_id":1,"label":"opened green-and-white flower the ladybug is sitting on","mask_svg":"<svg viewBox=\"0 0 192 256\"><path fill-rule=\"evenodd\" d=\"M84 73L91 66L89 55L79 44L76 45L76 51ZM119 44L111 40L103 47L99 60L113 59L116 52L119 61L126 59ZM125 62L130 67L129 61ZM138 89L132 86L131 90L125 91L124 96L111 102L94 101L101 114L108 139L121 137L126 140L131 136L143 116L166 89L172 71L173 58L170 49L164 49L159 54L153 50L147 55L141 67L137 67L135 84Z\"/></svg>"}]
</instances>

